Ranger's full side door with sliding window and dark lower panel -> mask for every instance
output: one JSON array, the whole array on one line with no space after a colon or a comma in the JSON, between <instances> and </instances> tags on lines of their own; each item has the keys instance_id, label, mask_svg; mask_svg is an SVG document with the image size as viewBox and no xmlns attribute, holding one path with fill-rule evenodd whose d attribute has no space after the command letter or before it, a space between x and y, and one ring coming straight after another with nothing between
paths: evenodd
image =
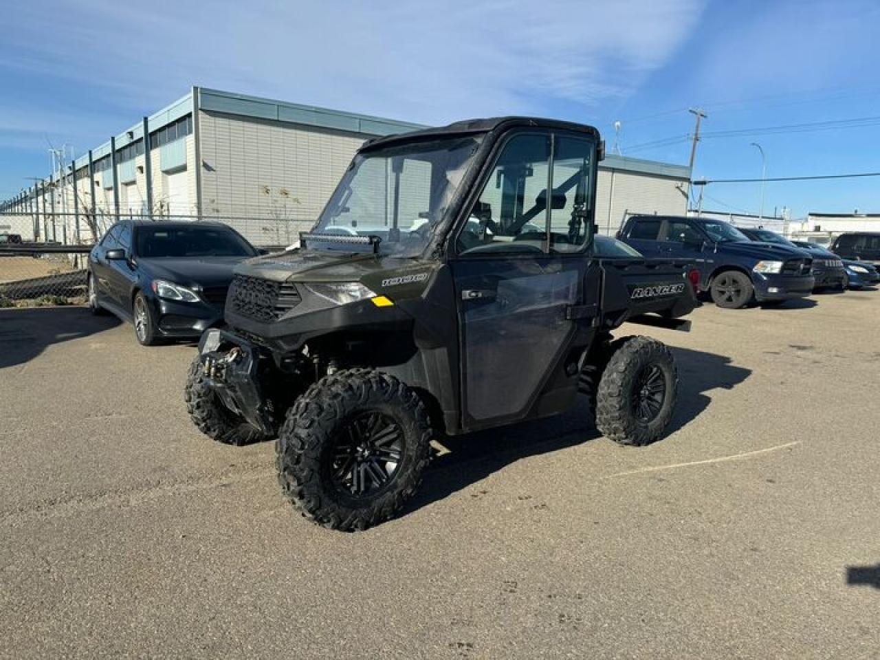
<instances>
[{"instance_id":1,"label":"Ranger's full side door with sliding window and dark lower panel","mask_svg":"<svg viewBox=\"0 0 880 660\"><path fill-rule=\"evenodd\" d=\"M484 172L451 260L464 429L554 414L574 399L598 309L587 254L595 159L590 139L518 133Z\"/></svg>"}]
</instances>

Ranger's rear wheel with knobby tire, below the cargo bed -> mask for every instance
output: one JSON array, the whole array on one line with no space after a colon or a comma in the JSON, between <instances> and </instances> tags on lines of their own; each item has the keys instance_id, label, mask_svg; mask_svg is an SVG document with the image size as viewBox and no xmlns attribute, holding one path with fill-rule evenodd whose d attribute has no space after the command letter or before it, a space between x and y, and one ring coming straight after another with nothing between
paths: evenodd
<instances>
[{"instance_id":1,"label":"Ranger's rear wheel with knobby tire, below the cargo bed","mask_svg":"<svg viewBox=\"0 0 880 660\"><path fill-rule=\"evenodd\" d=\"M677 396L670 349L649 337L628 337L599 381L596 427L620 444L653 443L669 425Z\"/></svg>"}]
</instances>

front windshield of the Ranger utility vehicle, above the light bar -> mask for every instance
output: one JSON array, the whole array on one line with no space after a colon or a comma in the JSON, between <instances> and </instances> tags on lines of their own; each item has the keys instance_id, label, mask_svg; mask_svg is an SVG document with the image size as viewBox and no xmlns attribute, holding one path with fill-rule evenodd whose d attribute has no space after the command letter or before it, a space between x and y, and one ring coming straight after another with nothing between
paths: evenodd
<instances>
[{"instance_id":1,"label":"front windshield of the Ranger utility vehicle, above the light bar","mask_svg":"<svg viewBox=\"0 0 880 660\"><path fill-rule=\"evenodd\" d=\"M419 256L442 224L480 140L454 137L358 154L312 233L377 236L381 254ZM342 241L313 246L353 249Z\"/></svg>"}]
</instances>

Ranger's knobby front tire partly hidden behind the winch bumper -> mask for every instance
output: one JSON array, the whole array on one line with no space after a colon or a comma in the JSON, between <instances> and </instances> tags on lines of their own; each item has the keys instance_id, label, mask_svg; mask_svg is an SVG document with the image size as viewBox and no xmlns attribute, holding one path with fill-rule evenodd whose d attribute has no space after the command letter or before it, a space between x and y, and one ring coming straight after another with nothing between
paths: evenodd
<instances>
[{"instance_id":1,"label":"Ranger's knobby front tire partly hidden behind the winch bumper","mask_svg":"<svg viewBox=\"0 0 880 660\"><path fill-rule=\"evenodd\" d=\"M183 398L195 428L218 443L241 446L270 439L224 406L205 377L198 356L189 365Z\"/></svg>"}]
</instances>

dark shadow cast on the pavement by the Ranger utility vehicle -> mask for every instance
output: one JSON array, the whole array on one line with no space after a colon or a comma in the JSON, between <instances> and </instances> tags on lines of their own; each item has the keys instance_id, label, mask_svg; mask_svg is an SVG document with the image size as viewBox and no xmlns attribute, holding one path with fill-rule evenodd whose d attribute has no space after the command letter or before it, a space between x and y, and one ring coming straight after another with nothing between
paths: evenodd
<instances>
[{"instance_id":1,"label":"dark shadow cast on the pavement by the Ranger utility vehicle","mask_svg":"<svg viewBox=\"0 0 880 660\"><path fill-rule=\"evenodd\" d=\"M710 399L704 392L719 387L731 389L752 374L752 370L733 366L730 357L689 348L672 348L672 352L678 364L679 385L678 406L669 433L686 426L708 407ZM584 400L579 398L578 402L583 404ZM442 444L449 452L434 459L422 488L403 515L442 500L521 458L598 438L600 434L585 408L576 405L558 417L444 438Z\"/></svg>"}]
</instances>

